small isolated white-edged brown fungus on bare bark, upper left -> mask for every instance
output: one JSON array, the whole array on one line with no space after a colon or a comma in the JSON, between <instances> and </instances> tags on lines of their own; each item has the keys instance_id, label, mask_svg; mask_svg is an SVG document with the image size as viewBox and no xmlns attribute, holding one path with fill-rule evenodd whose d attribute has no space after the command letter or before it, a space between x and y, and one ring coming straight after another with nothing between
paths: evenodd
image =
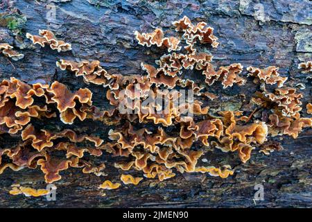
<instances>
[{"instance_id":1,"label":"small isolated white-edged brown fungus on bare bark, upper left","mask_svg":"<svg viewBox=\"0 0 312 222\"><path fill-rule=\"evenodd\" d=\"M26 33L26 37L30 39L33 44L40 44L42 47L49 45L51 49L57 50L59 53L61 51L71 50L71 44L62 40L58 40L49 30L39 30L39 35L31 35L31 33Z\"/></svg>"}]
</instances>

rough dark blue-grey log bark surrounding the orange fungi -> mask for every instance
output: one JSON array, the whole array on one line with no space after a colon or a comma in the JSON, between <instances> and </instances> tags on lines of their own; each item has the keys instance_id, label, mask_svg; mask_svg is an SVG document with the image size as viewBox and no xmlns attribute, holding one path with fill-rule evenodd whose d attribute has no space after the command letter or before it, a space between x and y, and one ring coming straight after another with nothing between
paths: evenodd
<instances>
[{"instance_id":1,"label":"rough dark blue-grey log bark surrounding the orange fungi","mask_svg":"<svg viewBox=\"0 0 312 222\"><path fill-rule=\"evenodd\" d=\"M56 19L51 19L49 12L54 6ZM140 63L153 64L164 51L139 46L133 33L159 27L174 34L171 22L187 15L194 22L204 21L214 27L220 46L202 47L202 50L214 55L216 67L233 62L241 62L244 67L276 65L282 76L288 76L289 86L303 83L306 88L302 90L302 114L309 117L305 105L311 102L311 81L297 70L297 65L312 60L312 1L2 0L0 8L0 42L7 42L25 54L17 62L0 56L1 79L15 76L27 83L58 80L71 89L88 87L94 92L94 105L105 108L106 89L86 85L82 78L60 71L55 61L100 60L110 73L143 74ZM37 35L38 29L54 31L60 39L70 42L73 50L57 53L49 47L32 46L25 34ZM220 99L207 105L211 109L243 109L255 90L252 80L245 87L222 89L216 85L211 87L211 92L220 95ZM239 94L246 94L247 98ZM65 128L60 121L42 124ZM66 128L88 128L90 133L96 132L102 138L107 138L110 129L91 121L75 122ZM234 167L234 176L226 179L201 173L177 173L175 178L164 182L144 180L135 187L114 191L98 189L101 182L118 178L121 173L112 167L114 160L110 155L104 154L96 161L105 162L108 176L87 175L79 169L63 171L62 180L55 182L57 200L51 202L45 197L8 194L13 183L44 188L39 169L7 170L0 175L0 207L311 207L312 130L304 130L297 139L272 139L281 142L284 150L269 156L254 151L246 164L241 164L236 155L207 152L209 163L224 162ZM0 137L1 146L14 142L15 138L9 135ZM253 200L256 184L264 186L263 201Z\"/></svg>"}]
</instances>

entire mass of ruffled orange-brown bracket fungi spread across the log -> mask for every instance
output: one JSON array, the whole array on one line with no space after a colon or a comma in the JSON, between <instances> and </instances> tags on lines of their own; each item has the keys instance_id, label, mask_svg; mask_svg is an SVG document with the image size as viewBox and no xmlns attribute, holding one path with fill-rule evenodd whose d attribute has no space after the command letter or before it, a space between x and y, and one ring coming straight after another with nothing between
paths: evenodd
<instances>
[{"instance_id":1,"label":"entire mass of ruffled orange-brown bracket fungi spread across the log","mask_svg":"<svg viewBox=\"0 0 312 222\"><path fill-rule=\"evenodd\" d=\"M67 86L55 81L51 85L26 83L11 78L0 84L0 132L21 135L21 144L0 149L0 173L6 168L15 171L24 167L40 166L46 182L61 179L60 171L69 167L83 169L83 173L106 176L105 164L95 165L84 159L84 153L99 157L111 155L119 157L114 167L121 169L124 185L137 185L145 178L166 180L180 173L209 173L211 176L227 178L234 171L229 165L200 166L198 160L205 155L205 147L217 148L223 152L235 152L241 162L250 160L256 148L268 154L279 150L278 144L268 143L268 135L289 135L296 138L302 128L311 127L311 118L300 117L302 94L291 87L284 87L286 77L280 76L278 68L263 69L248 67L248 76L261 85L250 103L256 110L266 109L267 118L245 116L243 111L222 110L216 115L209 114L209 107L203 106L202 98L216 99L207 89L220 82L223 89L234 84L245 85L243 65L234 63L214 68L213 56L196 49L196 44L218 46L214 29L205 22L192 24L188 17L173 22L175 31L182 37L164 37L157 28L152 33L135 32L137 42L142 46L157 46L168 51L155 61L155 65L141 63L146 75L110 74L98 60L59 60L56 66L67 70L85 83L107 88L106 98L112 105L110 110L102 110L92 105L92 92L78 89L71 92ZM41 36L27 33L33 44L51 49L67 51L71 45L56 40L51 31L40 31ZM300 65L304 71L311 71L311 62ZM205 85L196 80L184 78L185 70L197 70L205 78ZM275 86L273 90L266 85ZM173 103L182 94L175 88L189 89L195 99L175 106ZM164 89L164 90L159 90ZM171 91L166 90L171 89ZM160 96L168 101L167 112L162 106L144 105L148 99ZM131 112L122 112L126 108ZM311 113L311 103L306 105ZM157 112L155 112L155 110ZM191 114L191 115L189 115ZM259 115L258 115L259 116ZM78 118L77 118L78 117ZM51 132L36 128L33 119L60 118L65 124L92 119L105 125L116 125L107 138L94 135L80 135L65 129ZM122 120L123 126L118 126ZM149 123L151 127L145 127ZM173 127L175 130L167 130ZM108 141L109 139L109 141ZM64 153L60 157L59 152ZM6 155L6 161L1 157ZM129 172L139 171L140 177ZM99 188L117 189L119 182L105 180ZM15 194L24 193L15 189Z\"/></svg>"}]
</instances>

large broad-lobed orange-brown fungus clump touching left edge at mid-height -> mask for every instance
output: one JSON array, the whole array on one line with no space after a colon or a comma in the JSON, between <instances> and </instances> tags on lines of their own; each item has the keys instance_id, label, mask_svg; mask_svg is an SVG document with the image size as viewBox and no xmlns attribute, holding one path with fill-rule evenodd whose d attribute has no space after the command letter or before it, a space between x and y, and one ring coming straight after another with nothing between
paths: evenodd
<instances>
[{"instance_id":1,"label":"large broad-lobed orange-brown fungus clump touching left edge at mid-height","mask_svg":"<svg viewBox=\"0 0 312 222\"><path fill-rule=\"evenodd\" d=\"M56 103L60 119L69 124L76 117L83 121L87 117L83 107L92 105L92 92L89 89L78 89L71 93L65 85L57 81L50 87L41 83L28 85L16 78L2 80L0 96L0 130L12 134L21 130L33 118L55 117L52 103ZM45 104L34 105L42 96Z\"/></svg>"}]
</instances>

